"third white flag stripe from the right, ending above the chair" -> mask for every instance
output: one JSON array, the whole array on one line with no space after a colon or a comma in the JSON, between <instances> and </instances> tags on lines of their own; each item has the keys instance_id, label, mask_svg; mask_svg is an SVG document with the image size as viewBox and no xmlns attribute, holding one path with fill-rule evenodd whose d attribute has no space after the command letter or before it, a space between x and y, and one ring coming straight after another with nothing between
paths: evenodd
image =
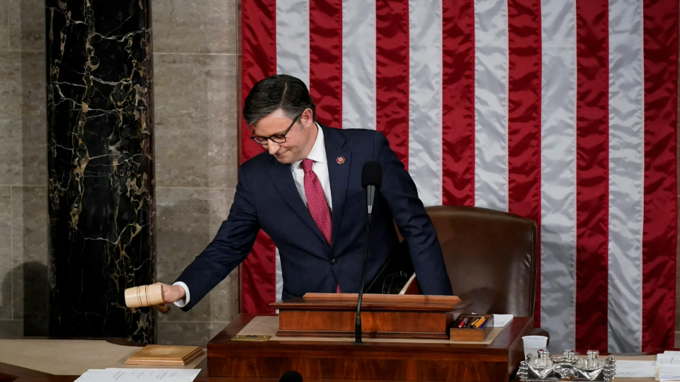
<instances>
[{"instance_id":1,"label":"third white flag stripe from the right, ending above the chair","mask_svg":"<svg viewBox=\"0 0 680 382\"><path fill-rule=\"evenodd\" d=\"M508 210L508 5L475 0L475 206Z\"/></svg>"}]
</instances>

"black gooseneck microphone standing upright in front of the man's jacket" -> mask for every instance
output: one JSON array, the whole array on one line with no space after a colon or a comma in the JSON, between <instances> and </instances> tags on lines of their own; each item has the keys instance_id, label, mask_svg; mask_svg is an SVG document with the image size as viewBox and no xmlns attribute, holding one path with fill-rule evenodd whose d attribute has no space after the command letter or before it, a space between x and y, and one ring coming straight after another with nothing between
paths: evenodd
<instances>
[{"instance_id":1,"label":"black gooseneck microphone standing upright in front of the man's jacket","mask_svg":"<svg viewBox=\"0 0 680 382\"><path fill-rule=\"evenodd\" d=\"M363 248L363 261L361 262L361 286L359 297L356 301L356 324L354 325L354 341L361 344L361 299L363 288L366 283L366 260L368 260L368 239L370 238L370 214L373 212L375 190L380 190L382 184L382 166L376 161L368 161L361 169L361 187L366 190L366 208L368 211L368 224L366 225L366 245Z\"/></svg>"}]
</instances>

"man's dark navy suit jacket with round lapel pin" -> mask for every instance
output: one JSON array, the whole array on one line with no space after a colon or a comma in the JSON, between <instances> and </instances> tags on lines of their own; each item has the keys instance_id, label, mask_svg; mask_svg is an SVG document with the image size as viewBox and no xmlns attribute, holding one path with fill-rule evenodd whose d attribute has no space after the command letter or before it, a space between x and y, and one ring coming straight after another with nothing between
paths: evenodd
<instances>
[{"instance_id":1,"label":"man's dark navy suit jacket with round lapel pin","mask_svg":"<svg viewBox=\"0 0 680 382\"><path fill-rule=\"evenodd\" d=\"M246 258L260 229L279 250L284 300L307 292L334 293L336 284L343 292L358 293L368 215L361 170L367 161L382 165L382 187L371 214L366 285L399 242L396 222L409 244L421 292L453 294L434 226L385 136L368 129L321 126L333 204L331 245L302 202L290 165L265 151L239 168L227 220L176 280L184 282L191 294L183 311L195 306ZM337 163L340 156L344 163Z\"/></svg>"}]
</instances>

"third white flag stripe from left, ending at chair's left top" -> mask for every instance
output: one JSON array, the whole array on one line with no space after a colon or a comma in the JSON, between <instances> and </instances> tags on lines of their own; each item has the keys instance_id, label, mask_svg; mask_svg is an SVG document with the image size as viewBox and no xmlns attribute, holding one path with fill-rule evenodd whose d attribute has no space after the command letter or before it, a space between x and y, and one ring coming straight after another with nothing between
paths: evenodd
<instances>
[{"instance_id":1,"label":"third white flag stripe from left, ending at chair's left top","mask_svg":"<svg viewBox=\"0 0 680 382\"><path fill-rule=\"evenodd\" d=\"M426 206L441 204L441 2L409 0L409 173Z\"/></svg>"}]
</instances>

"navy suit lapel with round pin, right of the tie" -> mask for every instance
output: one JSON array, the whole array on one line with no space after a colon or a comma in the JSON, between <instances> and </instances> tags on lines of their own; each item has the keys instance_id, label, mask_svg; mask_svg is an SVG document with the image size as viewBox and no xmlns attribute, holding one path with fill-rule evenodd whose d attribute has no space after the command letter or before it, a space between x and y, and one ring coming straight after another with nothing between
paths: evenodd
<instances>
[{"instance_id":1,"label":"navy suit lapel with round pin, right of the tie","mask_svg":"<svg viewBox=\"0 0 680 382\"><path fill-rule=\"evenodd\" d=\"M333 221L331 222L332 246L336 242L336 234L342 219L352 153L344 148L345 139L335 129L323 125L322 129L324 129L324 146L326 146L328 178L331 183L331 200L333 202Z\"/></svg>"}]
</instances>

